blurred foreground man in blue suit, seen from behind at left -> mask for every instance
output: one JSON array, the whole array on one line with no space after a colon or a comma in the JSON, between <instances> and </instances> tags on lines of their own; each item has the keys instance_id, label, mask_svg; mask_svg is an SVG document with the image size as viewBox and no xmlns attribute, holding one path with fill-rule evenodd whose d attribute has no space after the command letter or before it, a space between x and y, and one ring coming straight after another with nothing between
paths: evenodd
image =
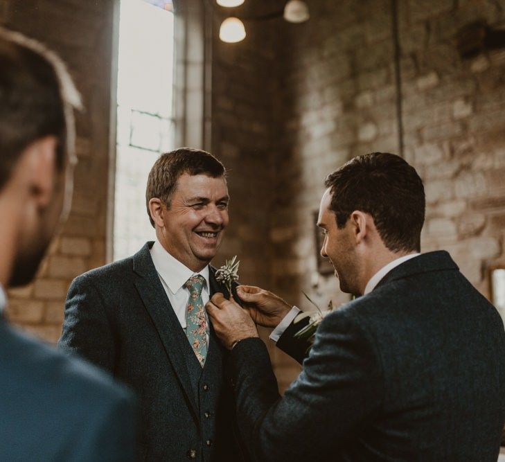
<instances>
[{"instance_id":1,"label":"blurred foreground man in blue suit, seen from behind at left","mask_svg":"<svg viewBox=\"0 0 505 462\"><path fill-rule=\"evenodd\" d=\"M0 69L0 460L134 460L130 393L3 317L69 211L80 97L55 54L3 29Z\"/></svg>"}]
</instances>

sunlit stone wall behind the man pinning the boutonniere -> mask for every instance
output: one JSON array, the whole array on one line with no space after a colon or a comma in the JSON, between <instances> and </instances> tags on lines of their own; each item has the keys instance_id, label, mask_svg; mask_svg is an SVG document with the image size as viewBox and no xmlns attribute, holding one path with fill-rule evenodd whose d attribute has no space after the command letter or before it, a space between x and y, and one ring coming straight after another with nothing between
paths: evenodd
<instances>
[{"instance_id":1,"label":"sunlit stone wall behind the man pinning the boutonniere","mask_svg":"<svg viewBox=\"0 0 505 462\"><path fill-rule=\"evenodd\" d=\"M505 50L463 60L454 37L476 19L503 27L505 2L398 7L405 158L427 195L423 251L448 249L487 295L486 269L505 256ZM281 83L294 103L274 172L286 186L272 228L283 241L272 275L280 288L288 270L302 281L314 272L308 219L324 175L355 155L399 150L391 1L314 1L310 9L310 22L289 35ZM333 277L321 281L325 294L328 283Z\"/></svg>"}]
</instances>

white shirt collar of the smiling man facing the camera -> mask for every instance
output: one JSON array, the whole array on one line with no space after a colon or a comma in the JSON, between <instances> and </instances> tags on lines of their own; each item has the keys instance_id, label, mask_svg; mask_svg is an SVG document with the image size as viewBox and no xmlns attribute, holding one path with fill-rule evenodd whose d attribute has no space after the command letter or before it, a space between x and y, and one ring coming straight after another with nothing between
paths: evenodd
<instances>
[{"instance_id":1,"label":"white shirt collar of the smiling man facing the camera","mask_svg":"<svg viewBox=\"0 0 505 462\"><path fill-rule=\"evenodd\" d=\"M177 258L170 255L158 240L154 241L150 252L154 268L156 268L158 274L166 285L168 285L172 294L175 294L191 276L195 276L196 274L200 274L205 278L207 293L211 293L209 289L209 265L206 265L202 271L195 273L186 267L186 265L179 262Z\"/></svg>"}]
</instances>

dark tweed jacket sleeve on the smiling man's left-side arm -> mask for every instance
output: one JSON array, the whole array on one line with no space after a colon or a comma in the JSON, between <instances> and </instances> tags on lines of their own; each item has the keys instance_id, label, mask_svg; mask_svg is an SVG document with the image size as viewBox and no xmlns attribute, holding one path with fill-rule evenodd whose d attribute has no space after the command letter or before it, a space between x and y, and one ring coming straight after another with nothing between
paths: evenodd
<instances>
[{"instance_id":1,"label":"dark tweed jacket sleeve on the smiling man's left-side arm","mask_svg":"<svg viewBox=\"0 0 505 462\"><path fill-rule=\"evenodd\" d=\"M70 286L58 346L114 373L114 335L105 302L86 274L74 279Z\"/></svg>"}]
</instances>

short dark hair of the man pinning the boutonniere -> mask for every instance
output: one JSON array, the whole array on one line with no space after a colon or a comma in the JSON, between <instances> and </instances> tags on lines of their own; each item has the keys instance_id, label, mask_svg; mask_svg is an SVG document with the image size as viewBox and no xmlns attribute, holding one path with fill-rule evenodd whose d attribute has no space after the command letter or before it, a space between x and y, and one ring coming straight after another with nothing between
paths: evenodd
<instances>
[{"instance_id":1,"label":"short dark hair of the man pinning the boutonniere","mask_svg":"<svg viewBox=\"0 0 505 462\"><path fill-rule=\"evenodd\" d=\"M355 157L326 177L330 210L343 228L353 211L369 213L391 251L420 251L425 189L414 167L396 154Z\"/></svg>"}]
</instances>

